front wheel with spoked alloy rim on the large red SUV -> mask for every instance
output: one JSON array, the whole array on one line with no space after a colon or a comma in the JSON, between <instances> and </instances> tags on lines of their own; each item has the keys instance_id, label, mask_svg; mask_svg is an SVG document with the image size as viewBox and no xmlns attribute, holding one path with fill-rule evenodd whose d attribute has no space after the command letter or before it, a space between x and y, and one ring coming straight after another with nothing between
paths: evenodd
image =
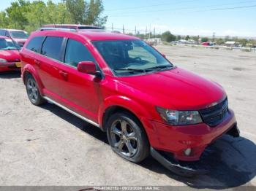
<instances>
[{"instance_id":1,"label":"front wheel with spoked alloy rim on the large red SUV","mask_svg":"<svg viewBox=\"0 0 256 191\"><path fill-rule=\"evenodd\" d=\"M136 117L128 112L113 114L107 122L108 142L116 154L132 163L149 155L146 132Z\"/></svg>"}]
</instances>

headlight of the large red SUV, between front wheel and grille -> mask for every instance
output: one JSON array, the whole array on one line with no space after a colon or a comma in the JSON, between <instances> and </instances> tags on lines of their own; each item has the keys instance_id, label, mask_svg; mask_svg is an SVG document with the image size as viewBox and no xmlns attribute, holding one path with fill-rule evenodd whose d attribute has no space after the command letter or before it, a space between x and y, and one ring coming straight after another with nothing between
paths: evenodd
<instances>
[{"instance_id":1,"label":"headlight of the large red SUV, between front wheel and grille","mask_svg":"<svg viewBox=\"0 0 256 191\"><path fill-rule=\"evenodd\" d=\"M202 122L197 111L174 111L157 106L157 112L170 125L191 125Z\"/></svg>"}]
</instances>

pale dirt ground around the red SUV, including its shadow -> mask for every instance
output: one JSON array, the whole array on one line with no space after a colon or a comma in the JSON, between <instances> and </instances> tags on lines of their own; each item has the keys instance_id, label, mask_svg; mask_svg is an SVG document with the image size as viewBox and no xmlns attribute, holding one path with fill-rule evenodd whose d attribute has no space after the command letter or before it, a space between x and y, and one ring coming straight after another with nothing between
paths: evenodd
<instances>
[{"instance_id":1,"label":"pale dirt ground around the red SUV, including its shadow","mask_svg":"<svg viewBox=\"0 0 256 191\"><path fill-rule=\"evenodd\" d=\"M256 186L256 53L195 47L157 49L170 61L219 82L241 137L223 136L206 157L211 173L172 174L148 157L138 165L114 154L105 133L53 104L30 104L19 73L0 74L0 185Z\"/></svg>"}]
</instances>

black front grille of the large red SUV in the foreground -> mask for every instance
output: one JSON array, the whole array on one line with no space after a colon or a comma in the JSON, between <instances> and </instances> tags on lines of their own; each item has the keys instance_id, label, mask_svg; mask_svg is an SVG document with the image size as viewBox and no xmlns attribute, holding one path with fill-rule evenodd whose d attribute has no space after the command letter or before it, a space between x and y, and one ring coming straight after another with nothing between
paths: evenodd
<instances>
[{"instance_id":1,"label":"black front grille of the large red SUV in the foreground","mask_svg":"<svg viewBox=\"0 0 256 191\"><path fill-rule=\"evenodd\" d=\"M227 116L227 98L215 106L211 106L206 109L200 109L199 112L203 118L203 122L206 122L207 125L211 127L219 125L219 123L221 123Z\"/></svg>"}]
</instances>

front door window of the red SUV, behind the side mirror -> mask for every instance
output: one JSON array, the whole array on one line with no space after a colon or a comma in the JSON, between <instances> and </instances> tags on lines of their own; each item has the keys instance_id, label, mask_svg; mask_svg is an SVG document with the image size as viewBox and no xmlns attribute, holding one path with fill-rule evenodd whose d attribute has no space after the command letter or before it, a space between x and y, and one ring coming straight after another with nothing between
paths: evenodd
<instances>
[{"instance_id":1,"label":"front door window of the red SUV, behind the side mirror","mask_svg":"<svg viewBox=\"0 0 256 191\"><path fill-rule=\"evenodd\" d=\"M82 43L69 39L64 62L77 67L80 61L94 61L94 58Z\"/></svg>"}]
</instances>

